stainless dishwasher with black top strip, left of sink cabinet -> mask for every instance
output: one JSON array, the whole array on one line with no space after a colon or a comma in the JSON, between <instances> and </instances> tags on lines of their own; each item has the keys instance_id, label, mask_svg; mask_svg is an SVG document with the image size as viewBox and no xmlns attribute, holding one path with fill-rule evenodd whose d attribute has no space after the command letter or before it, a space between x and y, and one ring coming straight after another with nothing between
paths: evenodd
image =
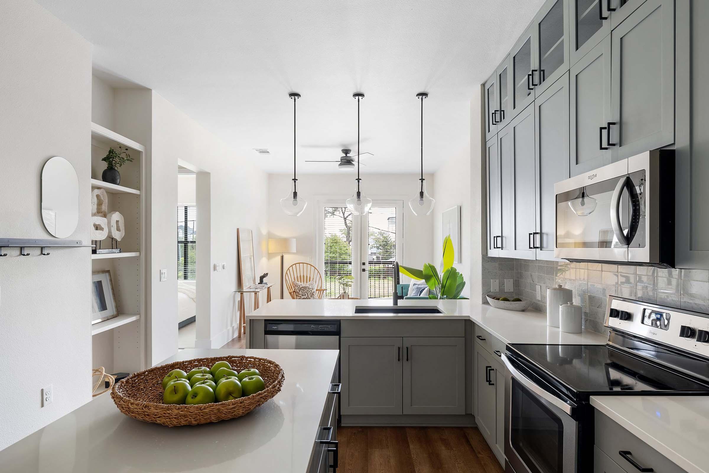
<instances>
[{"instance_id":1,"label":"stainless dishwasher with black top strip, left of sink cabinet","mask_svg":"<svg viewBox=\"0 0 709 473\"><path fill-rule=\"evenodd\" d=\"M264 347L339 350L340 321L265 321Z\"/></svg>"}]
</instances>

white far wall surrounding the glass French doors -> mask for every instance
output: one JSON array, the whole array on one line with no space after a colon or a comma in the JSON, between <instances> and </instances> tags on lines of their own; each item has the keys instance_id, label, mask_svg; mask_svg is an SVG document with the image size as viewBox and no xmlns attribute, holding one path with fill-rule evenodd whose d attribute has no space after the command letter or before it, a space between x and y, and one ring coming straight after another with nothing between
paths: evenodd
<instances>
[{"instance_id":1,"label":"white far wall surrounding the glass French doors","mask_svg":"<svg viewBox=\"0 0 709 473\"><path fill-rule=\"evenodd\" d=\"M295 262L316 262L316 233L318 219L316 218L317 201L330 198L345 200L354 194L356 174L298 174L298 196L308 200L308 206L301 216L291 217L281 210L280 200L291 189L290 174L269 175L269 238L296 238L298 252L285 255L284 268ZM433 177L425 174L428 193L435 189ZM420 183L415 174L362 174L362 191L370 199L399 199L404 201L403 215L403 259L402 265L423 267L425 262L433 262L433 216L414 216L408 208L408 199L418 195ZM274 299L280 292L280 255L269 255L268 281L276 284L273 287ZM440 255L438 256L440 257ZM437 262L436 262L437 264ZM322 271L322 268L320 268ZM289 298L288 291L284 297Z\"/></svg>"}]
</instances>

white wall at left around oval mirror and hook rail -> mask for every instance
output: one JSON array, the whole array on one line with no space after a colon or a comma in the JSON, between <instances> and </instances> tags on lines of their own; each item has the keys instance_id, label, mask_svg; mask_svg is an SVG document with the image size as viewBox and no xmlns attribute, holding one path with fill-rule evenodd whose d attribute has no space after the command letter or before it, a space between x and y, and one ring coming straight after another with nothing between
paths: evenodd
<instances>
[{"instance_id":1,"label":"white wall at left around oval mirror and hook rail","mask_svg":"<svg viewBox=\"0 0 709 473\"><path fill-rule=\"evenodd\" d=\"M69 238L88 244L91 45L26 0L3 2L0 44L0 236L52 238L40 218L40 173L62 156L79 177L79 223ZM6 252L0 372L21 382L0 384L0 450L91 399L89 248ZM49 384L54 402L42 408Z\"/></svg>"}]
</instances>

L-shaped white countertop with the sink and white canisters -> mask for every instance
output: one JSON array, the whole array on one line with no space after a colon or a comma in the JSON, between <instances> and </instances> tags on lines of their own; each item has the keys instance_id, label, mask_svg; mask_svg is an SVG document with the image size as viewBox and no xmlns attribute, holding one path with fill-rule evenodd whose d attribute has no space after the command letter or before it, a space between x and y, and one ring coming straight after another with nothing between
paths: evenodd
<instances>
[{"instance_id":1,"label":"L-shaped white countertop with the sink and white canisters","mask_svg":"<svg viewBox=\"0 0 709 473\"><path fill-rule=\"evenodd\" d=\"M354 313L357 306L391 306L391 299L275 299L246 315L247 319L469 319L488 330L504 343L549 343L569 345L605 345L608 334L584 330L581 333L564 333L559 328L547 326L547 314L528 309L523 312L506 311L488 304L457 299L436 301L408 299L398 301L402 306L434 306L443 313L396 314Z\"/></svg>"}]
</instances>

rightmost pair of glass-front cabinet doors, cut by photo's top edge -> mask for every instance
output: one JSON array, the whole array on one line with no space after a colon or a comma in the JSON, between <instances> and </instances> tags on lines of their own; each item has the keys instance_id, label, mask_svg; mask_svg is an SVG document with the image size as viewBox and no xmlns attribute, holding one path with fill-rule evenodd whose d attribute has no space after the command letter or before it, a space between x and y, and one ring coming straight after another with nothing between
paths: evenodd
<instances>
[{"instance_id":1,"label":"rightmost pair of glass-front cabinet doors, cut by photo's top edge","mask_svg":"<svg viewBox=\"0 0 709 473\"><path fill-rule=\"evenodd\" d=\"M645 0L569 0L571 65L608 36Z\"/></svg>"}]
</instances>

